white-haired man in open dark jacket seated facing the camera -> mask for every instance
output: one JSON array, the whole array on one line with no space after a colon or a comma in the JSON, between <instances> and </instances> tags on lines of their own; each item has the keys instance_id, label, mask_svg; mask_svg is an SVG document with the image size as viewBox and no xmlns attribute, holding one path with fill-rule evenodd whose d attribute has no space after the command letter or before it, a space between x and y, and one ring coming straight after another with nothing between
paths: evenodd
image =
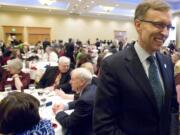
<instances>
[{"instance_id":1,"label":"white-haired man in open dark jacket seated facing the camera","mask_svg":"<svg viewBox=\"0 0 180 135\"><path fill-rule=\"evenodd\" d=\"M58 67L48 67L42 76L39 87L47 89L62 89L66 93L71 93L70 86L70 59L62 56L59 58Z\"/></svg>"}]
</instances>

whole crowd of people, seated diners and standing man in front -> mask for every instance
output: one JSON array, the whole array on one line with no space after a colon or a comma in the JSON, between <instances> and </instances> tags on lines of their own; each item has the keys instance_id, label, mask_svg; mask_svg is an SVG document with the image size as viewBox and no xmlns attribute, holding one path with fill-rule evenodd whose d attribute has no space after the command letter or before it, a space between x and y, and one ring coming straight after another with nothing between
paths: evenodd
<instances>
[{"instance_id":1,"label":"whole crowd of people, seated diners and standing man in front","mask_svg":"<svg viewBox=\"0 0 180 135\"><path fill-rule=\"evenodd\" d=\"M7 47L1 41L0 91L7 85L23 90L34 83L72 100L52 107L66 135L177 135L180 51L174 41L163 46L173 29L170 8L162 1L143 2L134 24L138 40L130 43L45 39L30 49L27 43ZM22 71L23 63L33 60L58 66L46 66L36 81ZM0 102L0 133L25 135L46 123L48 131L39 132L54 134L49 121L40 119L38 107L28 94L8 95ZM65 113L69 109L74 111ZM21 124L12 124L16 121Z\"/></svg>"}]
</instances>

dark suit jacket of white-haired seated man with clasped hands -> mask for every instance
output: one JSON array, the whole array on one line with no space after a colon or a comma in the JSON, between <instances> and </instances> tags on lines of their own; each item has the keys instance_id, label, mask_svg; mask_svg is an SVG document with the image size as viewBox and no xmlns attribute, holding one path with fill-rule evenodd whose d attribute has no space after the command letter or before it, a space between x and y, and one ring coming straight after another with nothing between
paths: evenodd
<instances>
[{"instance_id":1,"label":"dark suit jacket of white-haired seated man with clasped hands","mask_svg":"<svg viewBox=\"0 0 180 135\"><path fill-rule=\"evenodd\" d=\"M59 112L56 120L64 127L71 130L72 135L92 135L92 113L96 93L95 85L88 85L82 95L71 104L74 109L70 115Z\"/></svg>"}]
</instances>

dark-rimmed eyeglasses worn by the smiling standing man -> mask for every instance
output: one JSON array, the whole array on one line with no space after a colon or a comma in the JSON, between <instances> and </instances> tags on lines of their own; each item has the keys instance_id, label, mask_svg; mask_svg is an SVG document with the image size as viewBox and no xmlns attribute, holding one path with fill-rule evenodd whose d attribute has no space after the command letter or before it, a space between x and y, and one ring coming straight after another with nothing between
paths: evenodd
<instances>
[{"instance_id":1,"label":"dark-rimmed eyeglasses worn by the smiling standing man","mask_svg":"<svg viewBox=\"0 0 180 135\"><path fill-rule=\"evenodd\" d=\"M162 22L154 22L154 21L148 21L148 20L140 20L141 22L151 23L156 28L163 30L164 28L167 28L167 30L174 30L175 27L172 26L172 24L164 24Z\"/></svg>"}]
</instances>

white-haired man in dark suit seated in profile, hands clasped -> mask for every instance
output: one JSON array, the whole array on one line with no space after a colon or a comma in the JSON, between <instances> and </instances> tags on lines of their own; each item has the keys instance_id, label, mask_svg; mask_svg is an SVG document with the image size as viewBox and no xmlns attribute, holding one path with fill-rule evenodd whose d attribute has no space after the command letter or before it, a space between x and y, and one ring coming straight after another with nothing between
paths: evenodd
<instances>
[{"instance_id":1,"label":"white-haired man in dark suit seated in profile, hands clasped","mask_svg":"<svg viewBox=\"0 0 180 135\"><path fill-rule=\"evenodd\" d=\"M76 68L71 73L72 90L79 93L79 98L68 104L55 104L53 111L56 120L71 135L92 134L92 113L96 93L96 85L91 84L92 74L85 68ZM64 112L67 109L74 109L70 115Z\"/></svg>"}]
</instances>

